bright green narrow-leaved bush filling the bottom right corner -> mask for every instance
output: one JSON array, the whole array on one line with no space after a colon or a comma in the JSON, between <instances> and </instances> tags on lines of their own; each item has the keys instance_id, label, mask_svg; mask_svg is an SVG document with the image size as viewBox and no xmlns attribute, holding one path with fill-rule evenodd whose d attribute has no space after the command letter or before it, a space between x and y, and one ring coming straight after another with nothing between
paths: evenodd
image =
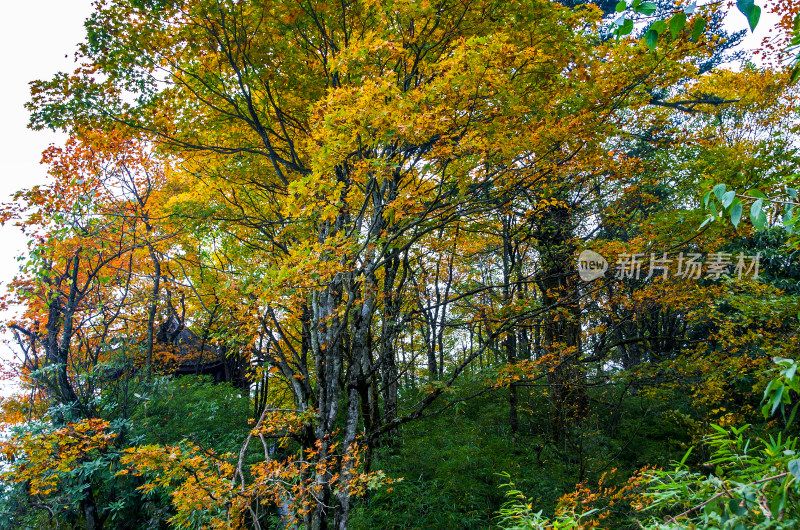
<instances>
[{"instance_id":1,"label":"bright green narrow-leaved bush filling the bottom right corner","mask_svg":"<svg viewBox=\"0 0 800 530\"><path fill-rule=\"evenodd\" d=\"M800 526L800 455L798 438L787 436L797 412L797 404L787 415L791 397L800 391L797 361L777 357L772 374L776 376L764 391L765 418L780 411L783 432L759 438L747 438L749 425L723 428L712 425L704 445L711 457L692 471L687 464L691 449L671 470L645 470L632 477L632 487L614 494L614 502L627 502L640 511L641 528L724 528L789 529ZM774 422L773 422L774 423ZM500 527L506 530L538 528L616 528L619 520L609 517L606 509L581 510L604 496L610 489L597 491L581 488L563 497L556 517L548 519L520 491L509 488L509 502L498 511ZM602 486L602 484L600 485ZM570 511L570 508L572 509ZM586 522L582 522L582 521Z\"/></svg>"}]
</instances>

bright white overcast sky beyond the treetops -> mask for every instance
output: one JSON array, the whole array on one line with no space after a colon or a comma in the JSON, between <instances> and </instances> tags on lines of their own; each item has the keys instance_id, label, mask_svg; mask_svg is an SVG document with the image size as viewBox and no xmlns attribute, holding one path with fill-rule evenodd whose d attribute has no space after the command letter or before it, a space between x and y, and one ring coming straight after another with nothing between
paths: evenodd
<instances>
[{"instance_id":1,"label":"bright white overcast sky beyond the treetops","mask_svg":"<svg viewBox=\"0 0 800 530\"><path fill-rule=\"evenodd\" d=\"M23 105L29 98L30 81L74 68L73 54L84 36L83 21L92 9L89 0L4 0L3 8L6 22L0 31L0 49L5 50L0 82L0 201L8 200L20 188L43 182L41 153L49 144L63 142L57 134L29 130ZM731 13L727 23L732 29L743 28L745 18ZM765 15L747 45L760 43L761 36L773 24L774 18ZM16 273L15 258L25 250L25 244L17 229L0 227L0 290L4 291ZM8 350L0 346L0 358L4 357L8 357Z\"/></svg>"}]
</instances>

